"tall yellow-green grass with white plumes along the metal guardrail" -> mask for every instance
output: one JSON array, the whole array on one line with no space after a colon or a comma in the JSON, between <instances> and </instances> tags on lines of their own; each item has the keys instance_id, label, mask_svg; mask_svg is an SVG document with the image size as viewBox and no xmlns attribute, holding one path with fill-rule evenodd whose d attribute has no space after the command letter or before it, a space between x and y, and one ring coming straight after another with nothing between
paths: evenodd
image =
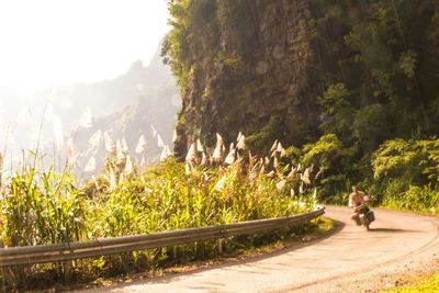
<instances>
[{"instance_id":1,"label":"tall yellow-green grass with white plumes along the metal guardrail","mask_svg":"<svg viewBox=\"0 0 439 293\"><path fill-rule=\"evenodd\" d=\"M228 154L218 140L217 156L202 160L204 150L190 149L185 164L168 158L138 173L110 153L103 173L85 185L68 171L24 164L1 185L0 233L5 247L46 245L153 234L257 218L279 217L314 209L315 177L281 162L274 147L267 159L244 154L241 138ZM238 139L239 140L239 139ZM204 155L203 155L204 154ZM227 155L227 156L226 156ZM130 170L128 170L130 169ZM128 170L128 171L127 171ZM223 243L234 251L301 233L282 229ZM72 263L72 280L93 280L168 267L215 256L216 241L149 249ZM9 288L30 289L63 282L70 264L52 263L2 271Z\"/></svg>"}]
</instances>

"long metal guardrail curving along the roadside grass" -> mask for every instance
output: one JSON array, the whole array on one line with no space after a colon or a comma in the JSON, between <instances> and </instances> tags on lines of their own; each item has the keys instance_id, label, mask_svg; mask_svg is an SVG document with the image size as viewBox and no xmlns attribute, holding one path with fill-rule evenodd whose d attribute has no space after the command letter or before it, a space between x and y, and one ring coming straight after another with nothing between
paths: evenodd
<instances>
[{"instance_id":1,"label":"long metal guardrail curving along the roadside grass","mask_svg":"<svg viewBox=\"0 0 439 293\"><path fill-rule=\"evenodd\" d=\"M325 209L322 207L313 212L293 216L247 221L201 228L103 238L90 241L0 248L0 267L61 262L148 248L189 244L200 240L221 239L230 236L282 228L285 226L297 226L305 224L324 213Z\"/></svg>"}]
</instances>

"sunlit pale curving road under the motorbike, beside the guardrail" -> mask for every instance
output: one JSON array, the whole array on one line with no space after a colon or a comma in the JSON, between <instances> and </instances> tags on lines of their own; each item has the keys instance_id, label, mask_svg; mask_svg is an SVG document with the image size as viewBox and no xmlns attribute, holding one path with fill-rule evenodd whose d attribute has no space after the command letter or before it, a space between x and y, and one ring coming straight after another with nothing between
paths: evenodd
<instances>
[{"instance_id":1,"label":"sunlit pale curving road under the motorbike, beside the guardrail","mask_svg":"<svg viewBox=\"0 0 439 293\"><path fill-rule=\"evenodd\" d=\"M337 228L323 239L100 292L369 292L439 256L437 218L374 212L370 232L351 223L350 210L327 207L326 216L337 222Z\"/></svg>"}]
</instances>

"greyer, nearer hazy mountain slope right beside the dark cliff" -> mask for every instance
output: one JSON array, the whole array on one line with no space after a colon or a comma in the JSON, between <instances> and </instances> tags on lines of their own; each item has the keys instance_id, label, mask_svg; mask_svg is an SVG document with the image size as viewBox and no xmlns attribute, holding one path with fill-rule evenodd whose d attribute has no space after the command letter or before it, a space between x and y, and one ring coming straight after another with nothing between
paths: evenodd
<instances>
[{"instance_id":1,"label":"greyer, nearer hazy mountain slope right beside the dark cliff","mask_svg":"<svg viewBox=\"0 0 439 293\"><path fill-rule=\"evenodd\" d=\"M101 92L103 98L116 101L116 98L112 97L121 94L119 90L126 94L121 97L127 97L127 99L117 99L124 102L130 101L131 104L117 109L110 115L94 119L91 128L81 128L78 132L75 144L81 153L82 166L91 156L95 157L99 166L106 156L103 135L101 135L99 147L90 148L89 139L97 132L108 133L114 142L125 139L128 146L127 153L137 158L138 162L142 156L135 154L135 148L140 135L144 135L146 146L143 156L149 162L157 160L161 151L161 147L158 147L157 135L160 135L166 145L171 145L176 114L181 106L169 68L162 65L161 58L156 54L148 67L144 67L139 61L134 63L125 76L121 76L110 84L106 88L113 88L116 92L105 95L106 92L103 91ZM123 91L124 87L132 90L134 88L134 90L128 93ZM108 103L102 101L102 104L106 106ZM156 136L151 126L157 131Z\"/></svg>"}]
</instances>

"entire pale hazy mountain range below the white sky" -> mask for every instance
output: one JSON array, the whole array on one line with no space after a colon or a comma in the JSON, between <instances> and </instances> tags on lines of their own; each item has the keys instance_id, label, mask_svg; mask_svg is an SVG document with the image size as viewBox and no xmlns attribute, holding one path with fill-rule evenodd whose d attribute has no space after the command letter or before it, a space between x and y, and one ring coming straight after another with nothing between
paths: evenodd
<instances>
[{"instance_id":1,"label":"entire pale hazy mountain range below the white sky","mask_svg":"<svg viewBox=\"0 0 439 293\"><path fill-rule=\"evenodd\" d=\"M89 138L98 131L106 132L114 140L125 138L132 155L143 134L146 139L145 159L157 159L161 149L157 146L157 137L153 136L151 125L170 145L176 113L181 106L175 79L170 68L162 64L159 50L148 66L135 61L125 74L112 80L41 90L29 97L0 89L0 147L2 151L7 149L8 157L20 160L21 149L35 149L35 140L40 138L41 153L57 154L57 158L63 158L66 146L58 144L55 147L56 128L60 135L64 134L65 144L69 138L74 139L75 150L80 156L79 170L91 156L95 157L99 168L106 156L103 135L99 145L90 149ZM50 113L46 112L46 119L42 120L47 105L52 105L59 120L48 119L52 116L48 109ZM91 127L79 127L88 109L92 115Z\"/></svg>"}]
</instances>

